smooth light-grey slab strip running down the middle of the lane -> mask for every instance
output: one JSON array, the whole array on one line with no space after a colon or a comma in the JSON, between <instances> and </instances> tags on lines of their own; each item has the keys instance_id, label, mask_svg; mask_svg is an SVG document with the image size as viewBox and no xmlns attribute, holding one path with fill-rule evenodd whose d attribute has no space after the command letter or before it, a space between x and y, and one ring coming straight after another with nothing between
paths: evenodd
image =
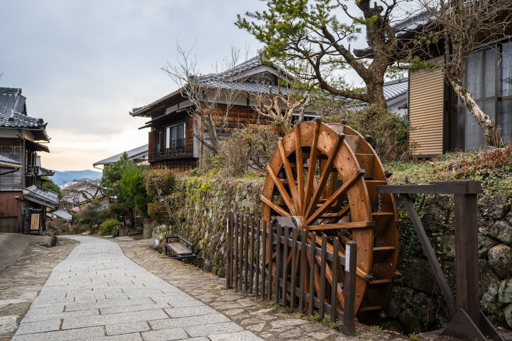
<instances>
[{"instance_id":1,"label":"smooth light-grey slab strip running down the middle of the lane","mask_svg":"<svg viewBox=\"0 0 512 341\"><path fill-rule=\"evenodd\" d=\"M77 236L13 341L260 340L125 257L117 243Z\"/></svg>"}]
</instances>

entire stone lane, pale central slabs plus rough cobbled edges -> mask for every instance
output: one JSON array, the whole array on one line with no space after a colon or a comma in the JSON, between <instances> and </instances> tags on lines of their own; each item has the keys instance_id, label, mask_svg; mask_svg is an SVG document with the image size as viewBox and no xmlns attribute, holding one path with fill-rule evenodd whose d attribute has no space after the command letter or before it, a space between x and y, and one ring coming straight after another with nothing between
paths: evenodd
<instances>
[{"instance_id":1,"label":"entire stone lane, pale central slabs plus rough cobbled edges","mask_svg":"<svg viewBox=\"0 0 512 341\"><path fill-rule=\"evenodd\" d=\"M31 341L409 339L359 323L356 335L345 335L339 324L226 289L224 279L157 253L154 239L72 238L34 245L0 273L0 340L14 331L12 340Z\"/></svg>"}]
</instances>

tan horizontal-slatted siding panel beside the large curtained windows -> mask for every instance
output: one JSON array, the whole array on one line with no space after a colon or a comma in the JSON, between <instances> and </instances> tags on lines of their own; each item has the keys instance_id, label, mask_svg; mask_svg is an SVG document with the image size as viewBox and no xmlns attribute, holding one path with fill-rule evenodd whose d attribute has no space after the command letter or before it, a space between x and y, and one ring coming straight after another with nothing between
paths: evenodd
<instances>
[{"instance_id":1,"label":"tan horizontal-slatted siding panel beside the large curtained windows","mask_svg":"<svg viewBox=\"0 0 512 341\"><path fill-rule=\"evenodd\" d=\"M443 152L444 78L441 70L409 75L409 120L417 143L414 155L433 156Z\"/></svg>"}]
</instances>

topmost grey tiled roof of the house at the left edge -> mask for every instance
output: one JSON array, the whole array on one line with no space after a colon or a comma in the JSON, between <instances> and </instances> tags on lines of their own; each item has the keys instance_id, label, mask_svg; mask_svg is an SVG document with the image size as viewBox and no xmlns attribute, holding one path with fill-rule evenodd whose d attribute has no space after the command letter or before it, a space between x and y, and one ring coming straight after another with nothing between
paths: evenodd
<instances>
[{"instance_id":1,"label":"topmost grey tiled roof of the house at the left edge","mask_svg":"<svg viewBox=\"0 0 512 341\"><path fill-rule=\"evenodd\" d=\"M0 87L0 127L45 129L42 119L27 116L22 89Z\"/></svg>"}]
</instances>

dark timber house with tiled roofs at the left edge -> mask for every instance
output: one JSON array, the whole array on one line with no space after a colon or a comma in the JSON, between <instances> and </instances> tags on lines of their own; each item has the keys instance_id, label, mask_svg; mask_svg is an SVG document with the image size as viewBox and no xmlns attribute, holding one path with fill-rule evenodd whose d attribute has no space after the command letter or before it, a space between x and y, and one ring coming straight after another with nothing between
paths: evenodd
<instances>
[{"instance_id":1,"label":"dark timber house with tiled roofs at the left edge","mask_svg":"<svg viewBox=\"0 0 512 341\"><path fill-rule=\"evenodd\" d=\"M22 89L0 87L0 232L40 233L57 193L42 188L39 151L50 152L42 119L27 115Z\"/></svg>"}]
</instances>

